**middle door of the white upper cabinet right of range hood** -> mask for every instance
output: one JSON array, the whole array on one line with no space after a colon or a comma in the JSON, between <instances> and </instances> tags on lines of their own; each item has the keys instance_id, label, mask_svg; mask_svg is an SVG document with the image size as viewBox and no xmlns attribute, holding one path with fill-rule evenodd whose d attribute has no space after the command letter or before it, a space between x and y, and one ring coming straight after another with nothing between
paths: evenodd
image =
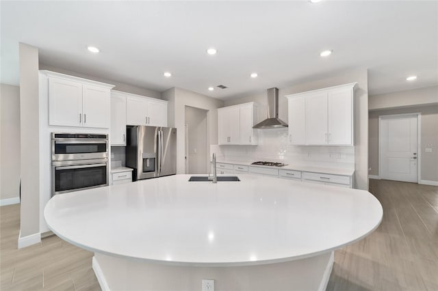
<instances>
[{"instance_id":1,"label":"middle door of the white upper cabinet right of range hood","mask_svg":"<svg viewBox=\"0 0 438 291\"><path fill-rule=\"evenodd\" d=\"M327 94L307 95L305 99L306 143L309 145L327 144Z\"/></svg>"}]
</instances>

